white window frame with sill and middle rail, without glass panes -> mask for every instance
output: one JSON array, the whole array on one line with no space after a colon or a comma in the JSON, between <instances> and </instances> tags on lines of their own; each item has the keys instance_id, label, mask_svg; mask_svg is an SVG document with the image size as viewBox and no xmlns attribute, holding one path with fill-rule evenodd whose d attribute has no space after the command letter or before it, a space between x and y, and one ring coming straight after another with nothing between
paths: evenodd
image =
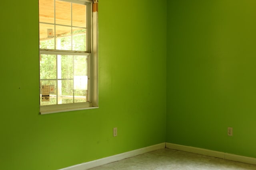
<instances>
[{"instance_id":1,"label":"white window frame with sill and middle rail, without glass panes","mask_svg":"<svg viewBox=\"0 0 256 170\"><path fill-rule=\"evenodd\" d=\"M62 0L66 2L77 2L77 0ZM89 68L89 102L83 103L72 103L72 104L56 104L40 106L40 114L58 113L65 111L76 111L84 109L96 109L98 108L98 11L93 12L93 5L98 6L98 0L79 0L83 2L89 2L90 5L90 38L89 42L90 49L82 53L72 53L64 50L50 50L50 49L39 49L39 55L43 54L58 54L58 55L87 55ZM93 4L94 3L94 4ZM95 4L97 3L97 4ZM41 88L41 87L40 87ZM40 95L39 95L40 98ZM40 101L41 102L41 101Z\"/></svg>"}]
</instances>

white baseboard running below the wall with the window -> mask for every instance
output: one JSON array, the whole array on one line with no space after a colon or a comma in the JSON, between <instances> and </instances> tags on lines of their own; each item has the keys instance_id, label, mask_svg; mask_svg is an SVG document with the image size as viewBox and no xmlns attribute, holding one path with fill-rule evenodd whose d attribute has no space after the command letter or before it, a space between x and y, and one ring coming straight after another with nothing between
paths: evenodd
<instances>
[{"instance_id":1,"label":"white baseboard running below the wall with the window","mask_svg":"<svg viewBox=\"0 0 256 170\"><path fill-rule=\"evenodd\" d=\"M139 155L139 154L144 154L146 152L151 152L151 151L158 150L158 149L164 149L165 144L166 143L160 143L160 144L157 144L157 145L152 145L152 146L141 148L141 149L136 149L136 150L132 150L132 151L129 151L129 152L124 152L124 153L121 153L121 154L108 156L106 158L101 158L101 159L93 160L93 161L90 161L90 162L84 162L82 164L69 166L67 168L62 168L60 170L87 170L89 168L94 168L96 166L101 166L101 165L108 164L108 163L111 163L111 162L116 162L118 160L130 158L132 156L136 156L136 155Z\"/></svg>"}]
</instances>

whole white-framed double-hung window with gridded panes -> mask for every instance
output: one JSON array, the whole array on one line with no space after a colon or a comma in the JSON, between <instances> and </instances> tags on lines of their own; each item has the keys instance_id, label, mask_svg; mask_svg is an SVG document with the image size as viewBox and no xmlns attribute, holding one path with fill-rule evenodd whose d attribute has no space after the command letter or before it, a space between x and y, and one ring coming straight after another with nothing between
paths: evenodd
<instances>
[{"instance_id":1,"label":"whole white-framed double-hung window with gridded panes","mask_svg":"<svg viewBox=\"0 0 256 170\"><path fill-rule=\"evenodd\" d=\"M41 114L98 107L97 3L39 0Z\"/></svg>"}]
</instances>

